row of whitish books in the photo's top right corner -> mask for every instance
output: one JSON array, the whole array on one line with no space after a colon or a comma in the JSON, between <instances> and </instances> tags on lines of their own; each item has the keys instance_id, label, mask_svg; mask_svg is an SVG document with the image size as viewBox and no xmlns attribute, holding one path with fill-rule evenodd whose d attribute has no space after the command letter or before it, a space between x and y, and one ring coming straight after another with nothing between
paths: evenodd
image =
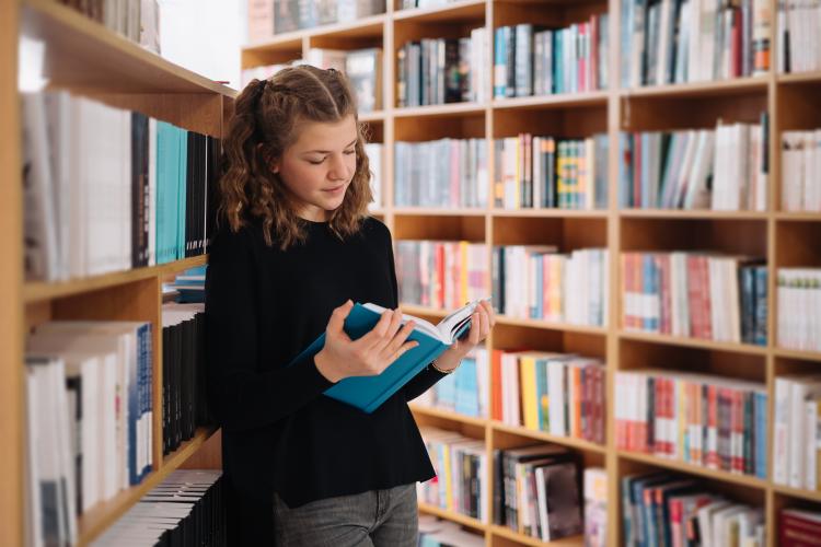
<instances>
[{"instance_id":1,"label":"row of whitish books in the photo's top right corner","mask_svg":"<svg viewBox=\"0 0 821 547\"><path fill-rule=\"evenodd\" d=\"M778 0L778 72L821 70L821 3Z\"/></svg>"}]
</instances>

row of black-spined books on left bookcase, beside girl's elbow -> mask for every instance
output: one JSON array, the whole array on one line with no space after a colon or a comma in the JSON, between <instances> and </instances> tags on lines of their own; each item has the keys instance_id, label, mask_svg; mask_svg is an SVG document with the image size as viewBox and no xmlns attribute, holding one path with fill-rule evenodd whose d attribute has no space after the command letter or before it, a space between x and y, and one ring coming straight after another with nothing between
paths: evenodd
<instances>
[{"instance_id":1,"label":"row of black-spined books on left bookcase, beside girl's elbow","mask_svg":"<svg viewBox=\"0 0 821 547\"><path fill-rule=\"evenodd\" d=\"M206 406L205 305L162 306L163 455L210 423Z\"/></svg>"}]
</instances>

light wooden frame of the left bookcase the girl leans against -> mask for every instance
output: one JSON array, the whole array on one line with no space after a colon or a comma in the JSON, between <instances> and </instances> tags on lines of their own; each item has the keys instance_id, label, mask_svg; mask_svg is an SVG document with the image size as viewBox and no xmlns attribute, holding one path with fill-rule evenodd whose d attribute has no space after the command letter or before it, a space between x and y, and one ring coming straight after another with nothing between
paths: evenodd
<instances>
[{"instance_id":1,"label":"light wooden frame of the left bookcase the girl leans against","mask_svg":"<svg viewBox=\"0 0 821 547\"><path fill-rule=\"evenodd\" d=\"M0 116L8 124L0 138L4 197L0 208L0 544L24 545L26 512L23 353L28 327L51 318L150 321L153 325L154 401L162 409L162 283L169 277L207 261L198 256L160 266L137 268L63 282L24 281L21 118L18 98L18 37L25 34L45 44L50 85L95 97L113 106L139 110L178 127L215 137L223 135L233 108L234 90L177 67L102 25L51 0L2 2L0 5ZM153 472L138 486L122 490L79 520L79 544L88 545L146 492L173 470L197 457L201 465L219 461L200 454L218 439L200 428L175 452L162 454L162 411L154 411ZM218 449L218 446L217 446ZM208 449L209 451L212 447ZM219 453L217 450L216 453Z\"/></svg>"}]
</instances>

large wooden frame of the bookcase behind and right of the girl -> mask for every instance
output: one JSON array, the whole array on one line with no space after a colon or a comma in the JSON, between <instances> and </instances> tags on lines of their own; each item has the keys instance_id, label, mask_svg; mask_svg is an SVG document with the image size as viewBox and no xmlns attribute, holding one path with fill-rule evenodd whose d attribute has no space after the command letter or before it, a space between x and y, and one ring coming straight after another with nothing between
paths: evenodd
<instances>
[{"instance_id":1,"label":"large wooden frame of the bookcase behind and right of the girl","mask_svg":"<svg viewBox=\"0 0 821 547\"><path fill-rule=\"evenodd\" d=\"M382 177L384 205L379 217L395 240L437 238L485 242L492 245L553 244L559 251L581 246L609 249L610 312L605 327L519 319L499 316L487 340L492 349L532 347L554 351L579 351L605 360L608 369L606 443L597 445L576 439L554 438L524 428L511 428L489 419L466 418L437 409L413 406L417 421L461 431L484 440L488 461L494 449L520 446L533 441L555 442L578 451L586 465L603 466L609 477L609 545L622 542L618 479L626 474L668 469L698 477L710 488L764 508L767 545L777 545L777 514L785 507L821 509L821 494L776 485L768 479L733 475L696 467L647 454L616 450L613 418L614 377L617 371L647 366L693 370L739 380L755 380L767 386L770 400L768 439L772 441L772 401L775 376L789 372L818 372L821 353L779 348L775 337L777 268L821 266L821 213L785 212L780 207L780 132L821 127L821 73L777 72L775 59L782 47L776 37L777 1L770 1L771 69L762 75L684 84L621 86L620 18L622 0L464 0L438 8L401 10L401 2L388 1L384 15L345 26L317 27L253 44L242 53L243 68L285 62L299 58L308 47L356 49L359 43L337 38L367 36L367 46L383 51L383 112L366 119L385 144ZM465 36L473 27L493 30L517 23L565 26L594 13L608 12L610 86L602 91L517 98L493 98L488 73L484 103L455 103L419 107L396 107L396 51L409 39ZM381 28L381 35L379 34ZM488 38L490 38L488 36ZM484 53L492 66L492 44ZM621 209L618 182L618 132L715 127L724 121L758 121L761 112L770 116L768 207L765 211ZM492 143L518 132L558 137L609 136L609 202L602 210L396 208L393 206L393 143L426 141L442 137L484 137L488 146L488 173L494 173ZM493 178L490 176L490 178ZM492 193L488 193L492 195ZM752 253L766 258L768 267L767 345L730 344L696 338L628 331L621 327L620 255L623 252L709 248L724 253ZM490 253L487 254L488 264ZM488 288L489 291L489 288ZM438 321L440 310L403 305L409 313ZM668 364L664 364L668 363ZM696 363L696 364L693 364ZM485 477L493 480L490 473ZM772 469L768 474L772 477ZM493 498L493 491L489 492ZM486 545L544 545L492 523L481 523L438 508L421 504L420 511L465 524L483 533ZM580 545L580 537L556 545Z\"/></svg>"}]
</instances>

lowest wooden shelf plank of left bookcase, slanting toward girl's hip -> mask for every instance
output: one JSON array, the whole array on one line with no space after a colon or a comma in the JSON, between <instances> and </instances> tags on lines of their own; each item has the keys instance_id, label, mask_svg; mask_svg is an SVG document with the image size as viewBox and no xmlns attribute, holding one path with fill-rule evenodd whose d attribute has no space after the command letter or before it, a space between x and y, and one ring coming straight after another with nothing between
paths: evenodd
<instances>
[{"instance_id":1,"label":"lowest wooden shelf plank of left bookcase, slanting toward girl's hip","mask_svg":"<svg viewBox=\"0 0 821 547\"><path fill-rule=\"evenodd\" d=\"M119 492L114 499L97 503L86 511L79 522L79 545L89 545L96 536L114 524L135 503L177 469L215 433L213 428L199 428L194 439L186 441L173 454L169 454L159 469L151 473L140 485Z\"/></svg>"}]
</instances>

